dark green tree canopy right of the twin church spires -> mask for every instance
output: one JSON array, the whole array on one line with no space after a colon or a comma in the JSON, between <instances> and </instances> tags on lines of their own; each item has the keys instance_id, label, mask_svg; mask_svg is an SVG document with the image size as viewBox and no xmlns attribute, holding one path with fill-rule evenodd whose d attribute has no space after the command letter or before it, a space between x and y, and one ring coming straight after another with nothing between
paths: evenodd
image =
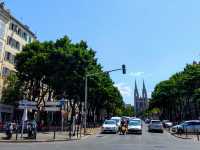
<instances>
[{"instance_id":1,"label":"dark green tree canopy right of the twin church spires","mask_svg":"<svg viewBox=\"0 0 200 150\"><path fill-rule=\"evenodd\" d=\"M181 121L198 119L200 110L200 64L188 64L183 71L156 85L150 109L160 108L161 118Z\"/></svg>"}]
</instances>

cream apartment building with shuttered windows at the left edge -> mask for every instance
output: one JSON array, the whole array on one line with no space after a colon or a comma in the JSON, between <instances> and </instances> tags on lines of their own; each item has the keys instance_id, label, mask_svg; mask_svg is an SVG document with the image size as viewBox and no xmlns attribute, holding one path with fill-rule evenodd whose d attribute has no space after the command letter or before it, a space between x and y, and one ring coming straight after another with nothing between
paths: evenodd
<instances>
[{"instance_id":1,"label":"cream apartment building with shuttered windows at the left edge","mask_svg":"<svg viewBox=\"0 0 200 150\"><path fill-rule=\"evenodd\" d=\"M0 3L0 101L6 77L15 70L15 55L24 45L36 40L28 26L17 20L4 3ZM8 108L7 108L8 109ZM0 114L3 108L0 105Z\"/></svg>"}]
</instances>

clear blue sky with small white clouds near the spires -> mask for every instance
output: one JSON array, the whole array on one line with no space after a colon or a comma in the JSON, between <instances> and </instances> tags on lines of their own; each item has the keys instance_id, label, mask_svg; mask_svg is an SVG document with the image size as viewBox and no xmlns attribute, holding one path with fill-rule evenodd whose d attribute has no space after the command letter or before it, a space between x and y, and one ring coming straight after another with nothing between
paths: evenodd
<instances>
[{"instance_id":1,"label":"clear blue sky with small white clouds near the spires","mask_svg":"<svg viewBox=\"0 0 200 150\"><path fill-rule=\"evenodd\" d=\"M200 58L199 0L5 0L39 40L85 40L133 104L134 80L154 86Z\"/></svg>"}]
</instances>

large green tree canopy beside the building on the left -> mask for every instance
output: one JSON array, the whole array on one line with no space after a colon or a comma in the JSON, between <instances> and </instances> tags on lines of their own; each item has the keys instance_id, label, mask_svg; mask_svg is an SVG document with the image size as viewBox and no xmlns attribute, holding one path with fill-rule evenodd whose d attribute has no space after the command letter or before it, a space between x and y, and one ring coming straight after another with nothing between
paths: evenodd
<instances>
[{"instance_id":1,"label":"large green tree canopy beside the building on the left","mask_svg":"<svg viewBox=\"0 0 200 150\"><path fill-rule=\"evenodd\" d=\"M27 44L16 55L16 70L20 95L37 102L38 109L46 101L61 98L68 99L72 108L81 107L85 76L93 73L98 74L88 78L88 112L94 115L105 109L108 114L117 114L124 107L119 90L84 41L72 43L64 36L55 42Z\"/></svg>"}]
</instances>

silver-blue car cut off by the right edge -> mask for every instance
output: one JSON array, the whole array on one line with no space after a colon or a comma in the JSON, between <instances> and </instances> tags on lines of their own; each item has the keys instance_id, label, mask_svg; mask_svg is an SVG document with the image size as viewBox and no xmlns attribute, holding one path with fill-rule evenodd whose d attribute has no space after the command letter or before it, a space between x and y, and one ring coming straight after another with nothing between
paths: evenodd
<instances>
[{"instance_id":1,"label":"silver-blue car cut off by the right edge","mask_svg":"<svg viewBox=\"0 0 200 150\"><path fill-rule=\"evenodd\" d=\"M179 125L173 126L172 127L172 132L176 132L176 133L200 132L200 120L184 121Z\"/></svg>"}]
</instances>

